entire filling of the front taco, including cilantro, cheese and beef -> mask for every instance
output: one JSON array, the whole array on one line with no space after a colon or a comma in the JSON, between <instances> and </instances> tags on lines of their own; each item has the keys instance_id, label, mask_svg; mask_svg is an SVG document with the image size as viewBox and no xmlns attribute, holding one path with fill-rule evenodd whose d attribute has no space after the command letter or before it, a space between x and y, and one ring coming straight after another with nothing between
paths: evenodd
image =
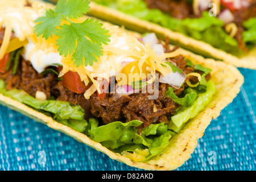
<instances>
[{"instance_id":1,"label":"entire filling of the front taco, including cilantro, cheese and beef","mask_svg":"<svg viewBox=\"0 0 256 182\"><path fill-rule=\"evenodd\" d=\"M0 93L134 161L160 154L212 100L211 70L168 39L82 20L87 9L67 11L75 3L89 5L61 0L39 16L26 1L0 3Z\"/></svg>"}]
</instances>

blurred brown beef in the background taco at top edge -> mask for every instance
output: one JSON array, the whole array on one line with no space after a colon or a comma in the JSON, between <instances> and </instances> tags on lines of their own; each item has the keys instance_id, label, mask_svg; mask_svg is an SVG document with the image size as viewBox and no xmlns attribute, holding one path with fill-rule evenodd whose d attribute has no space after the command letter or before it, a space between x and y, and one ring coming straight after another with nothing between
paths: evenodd
<instances>
[{"instance_id":1,"label":"blurred brown beef in the background taco at top edge","mask_svg":"<svg viewBox=\"0 0 256 182\"><path fill-rule=\"evenodd\" d=\"M185 0L145 0L150 9L159 9L164 13L170 13L172 17L184 19L195 16L193 7Z\"/></svg>"}]
</instances>

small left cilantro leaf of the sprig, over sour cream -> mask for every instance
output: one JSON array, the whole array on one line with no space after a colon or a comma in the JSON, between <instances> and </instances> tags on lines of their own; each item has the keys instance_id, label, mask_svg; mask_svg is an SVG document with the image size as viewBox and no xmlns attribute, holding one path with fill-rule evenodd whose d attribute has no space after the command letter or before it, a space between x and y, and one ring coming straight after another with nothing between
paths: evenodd
<instances>
[{"instance_id":1,"label":"small left cilantro leaf of the sprig, over sour cream","mask_svg":"<svg viewBox=\"0 0 256 182\"><path fill-rule=\"evenodd\" d=\"M35 20L36 26L34 27L34 33L36 36L43 35L46 40L52 35L56 34L56 27L60 25L63 16L56 14L53 10L47 10L46 16L41 16Z\"/></svg>"}]
</instances>

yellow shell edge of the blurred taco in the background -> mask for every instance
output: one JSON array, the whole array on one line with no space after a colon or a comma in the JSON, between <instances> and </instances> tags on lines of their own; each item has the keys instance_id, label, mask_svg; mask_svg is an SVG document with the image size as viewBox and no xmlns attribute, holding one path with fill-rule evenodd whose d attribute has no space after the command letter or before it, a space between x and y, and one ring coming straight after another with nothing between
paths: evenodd
<instances>
[{"instance_id":1,"label":"yellow shell edge of the blurred taco in the background","mask_svg":"<svg viewBox=\"0 0 256 182\"><path fill-rule=\"evenodd\" d=\"M171 44L183 47L205 57L223 60L236 67L256 69L256 46L246 55L237 57L222 51L221 49L214 48L208 43L189 38L179 32L174 32L168 28L159 26L158 24L135 18L134 16L127 15L121 11L97 5L95 2L90 2L90 12L88 14L114 24L123 25L129 30L140 33L155 32L159 38L165 39L168 37Z\"/></svg>"}]
</instances>

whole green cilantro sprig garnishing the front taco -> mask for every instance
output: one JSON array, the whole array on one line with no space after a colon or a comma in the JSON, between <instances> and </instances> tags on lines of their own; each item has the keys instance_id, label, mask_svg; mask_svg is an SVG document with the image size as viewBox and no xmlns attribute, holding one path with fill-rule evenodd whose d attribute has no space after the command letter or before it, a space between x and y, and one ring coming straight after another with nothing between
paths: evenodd
<instances>
[{"instance_id":1,"label":"whole green cilantro sprig garnishing the front taco","mask_svg":"<svg viewBox=\"0 0 256 182\"><path fill-rule=\"evenodd\" d=\"M108 30L99 20L88 18L82 23L72 22L89 12L88 0L59 0L55 10L49 9L45 16L35 20L34 32L44 39L56 35L60 55L70 54L74 65L93 65L103 55L102 44L110 42Z\"/></svg>"}]
</instances>

